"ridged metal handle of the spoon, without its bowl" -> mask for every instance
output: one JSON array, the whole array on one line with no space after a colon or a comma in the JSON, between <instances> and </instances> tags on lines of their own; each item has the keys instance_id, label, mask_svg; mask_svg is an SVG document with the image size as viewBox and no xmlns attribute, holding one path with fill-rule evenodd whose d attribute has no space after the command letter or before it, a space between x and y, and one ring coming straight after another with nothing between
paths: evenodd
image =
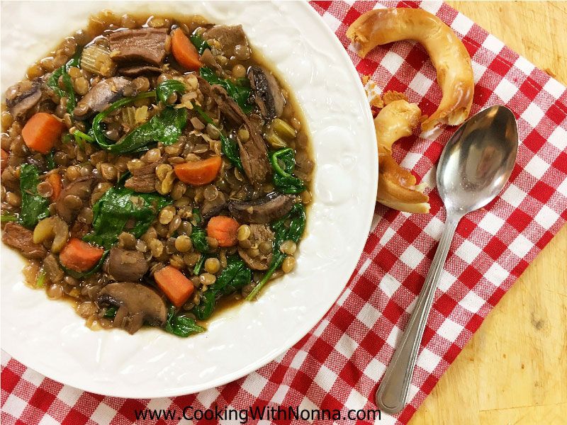
<instances>
[{"instance_id":1,"label":"ridged metal handle of the spoon, without its bowl","mask_svg":"<svg viewBox=\"0 0 567 425\"><path fill-rule=\"evenodd\" d=\"M398 348L396 348L392 360L388 368L386 368L380 387L378 387L376 392L376 404L383 412L388 414L398 413L405 407L405 399L408 396L423 330L433 304L437 280L439 280L443 270L449 246L451 246L451 240L453 240L459 220L461 220L460 216L447 216L445 229L439 240L437 251L433 257L433 262L425 278L421 293L417 297L415 310L413 310L408 326L405 328Z\"/></svg>"}]
</instances>

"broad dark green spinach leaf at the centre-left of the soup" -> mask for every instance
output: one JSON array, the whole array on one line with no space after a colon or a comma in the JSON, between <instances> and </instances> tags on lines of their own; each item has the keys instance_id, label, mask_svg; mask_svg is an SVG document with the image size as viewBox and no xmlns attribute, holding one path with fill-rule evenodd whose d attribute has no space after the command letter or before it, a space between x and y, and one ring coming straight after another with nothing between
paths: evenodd
<instances>
[{"instance_id":1,"label":"broad dark green spinach leaf at the centre-left of the soup","mask_svg":"<svg viewBox=\"0 0 567 425\"><path fill-rule=\"evenodd\" d=\"M131 220L134 220L134 226L128 232L140 237L150 227L158 212L170 203L172 200L157 193L136 193L116 186L110 188L94 204L94 230L83 239L109 249Z\"/></svg>"}]
</instances>

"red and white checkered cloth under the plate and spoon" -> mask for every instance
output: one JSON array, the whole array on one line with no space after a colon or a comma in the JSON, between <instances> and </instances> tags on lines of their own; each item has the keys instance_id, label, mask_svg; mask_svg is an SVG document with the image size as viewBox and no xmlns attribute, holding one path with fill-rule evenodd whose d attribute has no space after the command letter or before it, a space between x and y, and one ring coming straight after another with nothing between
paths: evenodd
<instances>
[{"instance_id":1,"label":"red and white checkered cloth under the plate and spoon","mask_svg":"<svg viewBox=\"0 0 567 425\"><path fill-rule=\"evenodd\" d=\"M404 92L425 114L435 110L441 93L422 47L398 42L360 60L345 38L361 13L384 5L314 1L312 6L361 75L371 74L383 91ZM419 5L403 1L385 6ZM409 421L486 314L567 218L566 88L446 4L421 6L449 24L471 55L476 80L471 112L505 104L517 117L521 142L503 192L486 208L464 217L456 230L425 328L410 402L396 416L382 414L384 424ZM276 360L195 395L118 399L54 382L3 353L2 423L128 424L135 420L134 409L186 405L376 409L377 382L408 322L442 232L445 212L434 189L435 164L454 130L447 128L436 140L414 137L397 144L395 158L432 188L431 214L407 215L376 205L374 227L344 293L314 329Z\"/></svg>"}]
</instances>

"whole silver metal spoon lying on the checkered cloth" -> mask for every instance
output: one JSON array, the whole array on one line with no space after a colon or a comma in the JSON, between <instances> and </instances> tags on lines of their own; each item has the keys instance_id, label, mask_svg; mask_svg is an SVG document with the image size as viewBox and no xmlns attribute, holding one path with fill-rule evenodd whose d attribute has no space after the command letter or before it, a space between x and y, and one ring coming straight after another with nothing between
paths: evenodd
<instances>
[{"instance_id":1,"label":"whole silver metal spoon lying on the checkered cloth","mask_svg":"<svg viewBox=\"0 0 567 425\"><path fill-rule=\"evenodd\" d=\"M437 190L447 208L447 221L415 310L376 392L376 404L383 412L395 414L405 407L437 280L456 225L465 214L500 193L514 168L517 149L516 120L504 106L491 106L468 119L443 149L437 166Z\"/></svg>"}]
</instances>

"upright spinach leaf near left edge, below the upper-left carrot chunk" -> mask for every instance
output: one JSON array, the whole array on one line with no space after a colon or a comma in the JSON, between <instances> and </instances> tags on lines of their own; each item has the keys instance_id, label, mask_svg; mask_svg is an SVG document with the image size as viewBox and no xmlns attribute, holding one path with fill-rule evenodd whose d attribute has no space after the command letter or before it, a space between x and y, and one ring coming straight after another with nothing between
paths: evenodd
<instances>
[{"instance_id":1,"label":"upright spinach leaf near left edge, below the upper-left carrot chunk","mask_svg":"<svg viewBox=\"0 0 567 425\"><path fill-rule=\"evenodd\" d=\"M19 222L28 229L33 229L39 220L49 217L50 200L38 194L39 175L38 168L34 165L22 164L20 167L22 208Z\"/></svg>"}]
</instances>

